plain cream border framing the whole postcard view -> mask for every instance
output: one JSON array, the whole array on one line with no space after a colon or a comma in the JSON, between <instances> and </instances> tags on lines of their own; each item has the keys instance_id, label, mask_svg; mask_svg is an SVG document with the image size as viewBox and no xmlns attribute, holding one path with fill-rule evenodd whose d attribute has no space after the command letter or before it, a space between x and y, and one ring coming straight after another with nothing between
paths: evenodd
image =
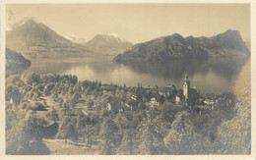
<instances>
[{"instance_id":1,"label":"plain cream border framing the whole postcard view","mask_svg":"<svg viewBox=\"0 0 256 160\"><path fill-rule=\"evenodd\" d=\"M196 159L196 160L212 160L212 159L242 159L242 160L256 160L256 0L0 0L1 5L1 63L0 63L0 159ZM252 138L251 138L251 155L148 155L148 156L103 156L103 155L46 155L46 156L13 156L5 155L5 5L14 3L48 3L48 4L62 4L62 3L250 3L251 5L251 102L252 102Z\"/></svg>"}]
</instances>

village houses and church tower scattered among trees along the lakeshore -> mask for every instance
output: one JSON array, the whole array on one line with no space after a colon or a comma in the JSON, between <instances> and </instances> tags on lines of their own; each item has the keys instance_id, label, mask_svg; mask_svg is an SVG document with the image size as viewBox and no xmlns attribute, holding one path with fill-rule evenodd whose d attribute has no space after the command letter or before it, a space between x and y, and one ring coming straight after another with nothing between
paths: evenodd
<instances>
[{"instance_id":1,"label":"village houses and church tower scattered among trees along the lakeshore","mask_svg":"<svg viewBox=\"0 0 256 160\"><path fill-rule=\"evenodd\" d=\"M113 89L116 89L118 87L117 85L109 86L107 84L102 84L101 88L103 91L111 91ZM150 96L147 96L148 92L152 92ZM175 104L188 104L191 103L191 97L195 97L197 95L199 97L199 100L202 101L202 103L205 105L209 105L212 108L218 104L218 100L216 98L211 99L202 99L200 97L199 91L196 89L196 87L190 87L190 80L188 79L188 76L185 76L185 79L183 80L182 89L177 90L175 85L168 84L164 87L154 87L154 88L143 88L142 84L138 85L138 87L133 88L133 94L131 97L126 101L121 102L121 107L119 108L120 112L123 112L125 110L133 110L134 105L138 105L139 101L143 101L146 106L155 108L160 106L160 97L170 98L172 101L174 100ZM81 99L82 98L82 99ZM85 104L85 99L81 97L78 100L78 106ZM7 95L7 100L10 100L11 103L15 103L16 105L19 105L21 99L21 95L18 90L13 91L12 93ZM105 105L106 110L111 110L111 104L106 103Z\"/></svg>"}]
</instances>

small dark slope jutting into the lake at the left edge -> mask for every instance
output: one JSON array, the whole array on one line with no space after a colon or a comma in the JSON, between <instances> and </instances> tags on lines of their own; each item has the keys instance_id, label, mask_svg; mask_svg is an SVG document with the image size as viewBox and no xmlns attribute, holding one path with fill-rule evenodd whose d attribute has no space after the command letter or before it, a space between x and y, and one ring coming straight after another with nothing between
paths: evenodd
<instances>
[{"instance_id":1,"label":"small dark slope jutting into the lake at the left edge","mask_svg":"<svg viewBox=\"0 0 256 160\"><path fill-rule=\"evenodd\" d=\"M32 62L26 59L23 55L16 53L9 48L6 48L6 72L7 75L20 73L26 69L28 69Z\"/></svg>"}]
</instances>

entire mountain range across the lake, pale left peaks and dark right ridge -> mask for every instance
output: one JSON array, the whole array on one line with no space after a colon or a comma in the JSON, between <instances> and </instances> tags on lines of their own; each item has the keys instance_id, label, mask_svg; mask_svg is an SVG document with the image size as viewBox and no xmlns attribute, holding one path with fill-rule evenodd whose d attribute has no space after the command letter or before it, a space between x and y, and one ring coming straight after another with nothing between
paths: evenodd
<instances>
[{"instance_id":1,"label":"entire mountain range across the lake, pale left peaks and dark right ridge","mask_svg":"<svg viewBox=\"0 0 256 160\"><path fill-rule=\"evenodd\" d=\"M76 35L59 35L34 18L25 18L9 26L6 32L6 47L28 58L107 55L116 56L114 60L118 62L161 62L180 58L250 55L246 45L240 33L230 29L212 37L183 37L174 33L135 45L117 33L96 34L87 40Z\"/></svg>"}]
</instances>

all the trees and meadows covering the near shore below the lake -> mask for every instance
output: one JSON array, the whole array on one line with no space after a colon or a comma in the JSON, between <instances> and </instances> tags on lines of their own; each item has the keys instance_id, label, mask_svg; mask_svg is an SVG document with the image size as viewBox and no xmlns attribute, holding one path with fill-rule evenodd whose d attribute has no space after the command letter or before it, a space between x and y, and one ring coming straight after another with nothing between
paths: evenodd
<instances>
[{"instance_id":1,"label":"all the trees and meadows covering the near shore below the lake","mask_svg":"<svg viewBox=\"0 0 256 160\"><path fill-rule=\"evenodd\" d=\"M213 107L76 76L32 73L6 81L7 154L250 153L249 89L209 94L219 100ZM152 97L159 107L148 105Z\"/></svg>"}]
</instances>

